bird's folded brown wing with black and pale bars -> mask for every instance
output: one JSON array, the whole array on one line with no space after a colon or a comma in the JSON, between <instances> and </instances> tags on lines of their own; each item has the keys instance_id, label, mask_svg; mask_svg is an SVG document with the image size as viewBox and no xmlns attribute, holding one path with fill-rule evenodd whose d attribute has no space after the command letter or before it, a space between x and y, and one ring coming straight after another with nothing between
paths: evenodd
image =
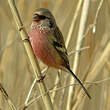
<instances>
[{"instance_id":1,"label":"bird's folded brown wing with black and pale bars","mask_svg":"<svg viewBox=\"0 0 110 110\"><path fill-rule=\"evenodd\" d=\"M66 66L69 67L69 61L68 61L68 57L67 57L68 55L67 55L67 50L65 47L63 35L60 32L58 27L56 27L54 29L53 35L54 35L53 39L52 39L53 46L57 50L57 52L59 53L61 58L64 60Z\"/></svg>"}]
</instances>

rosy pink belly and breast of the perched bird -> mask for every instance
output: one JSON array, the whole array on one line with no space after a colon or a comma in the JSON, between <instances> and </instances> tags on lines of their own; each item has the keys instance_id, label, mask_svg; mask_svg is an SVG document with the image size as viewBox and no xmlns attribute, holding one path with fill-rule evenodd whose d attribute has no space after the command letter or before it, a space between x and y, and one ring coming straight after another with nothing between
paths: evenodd
<instances>
[{"instance_id":1,"label":"rosy pink belly and breast of the perched bird","mask_svg":"<svg viewBox=\"0 0 110 110\"><path fill-rule=\"evenodd\" d=\"M35 56L37 56L46 65L59 68L61 58L56 50L53 48L52 44L48 42L47 35L31 35L31 45L34 50Z\"/></svg>"}]
</instances>

